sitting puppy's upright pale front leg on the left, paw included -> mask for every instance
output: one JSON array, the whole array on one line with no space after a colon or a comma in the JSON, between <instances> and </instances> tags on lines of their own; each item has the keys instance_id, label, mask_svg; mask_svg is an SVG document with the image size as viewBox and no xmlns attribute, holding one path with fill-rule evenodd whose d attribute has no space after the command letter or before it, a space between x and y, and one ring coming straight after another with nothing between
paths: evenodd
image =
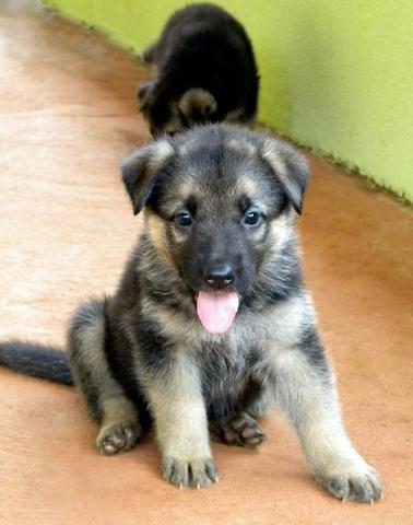
<instances>
[{"instance_id":1,"label":"sitting puppy's upright pale front leg on the left, paw included","mask_svg":"<svg viewBox=\"0 0 413 525\"><path fill-rule=\"evenodd\" d=\"M197 366L180 352L162 377L146 385L162 453L162 474L178 487L206 487L217 481L206 410Z\"/></svg>"}]
</instances>

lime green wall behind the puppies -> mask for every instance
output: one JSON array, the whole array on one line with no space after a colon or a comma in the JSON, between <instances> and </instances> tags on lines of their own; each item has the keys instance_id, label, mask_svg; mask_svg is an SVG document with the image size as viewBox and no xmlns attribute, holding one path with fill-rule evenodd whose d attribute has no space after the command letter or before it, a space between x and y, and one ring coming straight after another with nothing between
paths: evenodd
<instances>
[{"instance_id":1,"label":"lime green wall behind the puppies","mask_svg":"<svg viewBox=\"0 0 413 525\"><path fill-rule=\"evenodd\" d=\"M141 51L181 0L47 0ZM413 1L223 0L249 33L259 119L413 201Z\"/></svg>"}]
</instances>

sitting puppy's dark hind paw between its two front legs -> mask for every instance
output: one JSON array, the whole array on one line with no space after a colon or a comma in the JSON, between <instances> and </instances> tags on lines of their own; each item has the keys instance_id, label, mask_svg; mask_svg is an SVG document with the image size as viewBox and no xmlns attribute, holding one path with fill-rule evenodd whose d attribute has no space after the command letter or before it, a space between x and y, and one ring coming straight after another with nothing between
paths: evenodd
<instances>
[{"instance_id":1,"label":"sitting puppy's dark hind paw between its two front legs","mask_svg":"<svg viewBox=\"0 0 413 525\"><path fill-rule=\"evenodd\" d=\"M228 421L214 422L211 427L213 439L227 445L251 448L267 440L261 427L247 413L241 413Z\"/></svg>"}]
</instances>

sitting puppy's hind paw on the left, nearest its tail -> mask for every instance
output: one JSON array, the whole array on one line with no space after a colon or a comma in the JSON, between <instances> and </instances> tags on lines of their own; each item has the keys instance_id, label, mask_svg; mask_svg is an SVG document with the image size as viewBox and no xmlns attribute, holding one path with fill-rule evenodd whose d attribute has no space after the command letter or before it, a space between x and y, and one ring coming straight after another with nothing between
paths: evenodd
<instances>
[{"instance_id":1,"label":"sitting puppy's hind paw on the left, nearest its tail","mask_svg":"<svg viewBox=\"0 0 413 525\"><path fill-rule=\"evenodd\" d=\"M111 427L101 429L96 439L96 446L106 456L132 448L141 436L139 424L123 421Z\"/></svg>"}]
</instances>

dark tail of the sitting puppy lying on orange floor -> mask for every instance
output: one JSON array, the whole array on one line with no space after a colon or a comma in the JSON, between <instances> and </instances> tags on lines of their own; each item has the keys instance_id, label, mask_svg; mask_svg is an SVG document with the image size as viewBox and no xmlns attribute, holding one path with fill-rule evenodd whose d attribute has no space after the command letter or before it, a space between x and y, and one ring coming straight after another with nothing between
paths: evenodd
<instances>
[{"instance_id":1,"label":"dark tail of the sitting puppy lying on orange floor","mask_svg":"<svg viewBox=\"0 0 413 525\"><path fill-rule=\"evenodd\" d=\"M73 385L64 352L44 345L21 341L0 342L0 365L14 372Z\"/></svg>"}]
</instances>

